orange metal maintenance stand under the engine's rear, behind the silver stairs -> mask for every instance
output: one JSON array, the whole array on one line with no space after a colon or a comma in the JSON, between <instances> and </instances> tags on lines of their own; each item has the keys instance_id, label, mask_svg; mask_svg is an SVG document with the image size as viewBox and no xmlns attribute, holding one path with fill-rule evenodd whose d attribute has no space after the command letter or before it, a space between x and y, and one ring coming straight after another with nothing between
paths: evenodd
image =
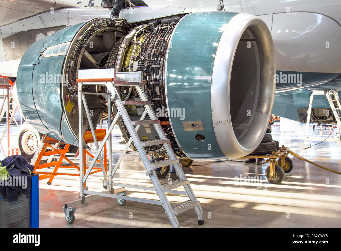
<instances>
[{"instance_id":1,"label":"orange metal maintenance stand under the engine's rear, behind the silver stairs","mask_svg":"<svg viewBox=\"0 0 341 251\"><path fill-rule=\"evenodd\" d=\"M106 134L106 129L98 129L95 130L95 135L97 138L97 141L102 141L105 137ZM86 131L86 133L84 134L84 140L86 144L90 144L93 143L93 137L91 134L91 131ZM44 140L42 142L44 145L42 147L42 150L39 152L38 154L38 158L34 161L34 163L31 163L31 165L34 166L34 173L38 173L40 174L39 176L39 180L43 180L43 179L49 179L47 184L51 184L53 179L56 177L56 175L67 175L67 176L79 176L79 166L77 166L76 164L74 164L68 157L65 156L66 153L69 152L69 147L70 144L65 144L65 147L63 149L56 149L56 147L53 146L53 144L58 144L60 143L60 141L50 138L50 137L44 137ZM51 151L46 151L48 148L51 148ZM79 152L79 149L77 151L77 153ZM77 156L78 154L76 153L75 156ZM83 149L83 166L85 167L83 172L85 175L87 169L89 167L86 166L86 154L88 154L89 156L91 156L92 158L94 157L88 150ZM58 161L52 161L52 162L48 162L48 163L42 163L40 164L43 156L51 156L51 155L59 155L59 159ZM107 156L106 156L106 143L104 144L104 169L105 172L106 170L106 163L107 163ZM58 156L57 156L58 158ZM63 159L65 159L67 162L69 162L71 165L62 165L63 164ZM100 163L100 161L97 159L97 162ZM48 168L48 167L55 167L53 169L52 172L47 172L47 171L41 171L41 169L44 168ZM65 173L65 172L57 172L59 168L74 168L78 170L78 173ZM92 172L90 172L90 175L93 173L97 173L102 171L101 167L93 167L92 168ZM84 183L84 187L86 187L86 183Z\"/></svg>"}]
</instances>

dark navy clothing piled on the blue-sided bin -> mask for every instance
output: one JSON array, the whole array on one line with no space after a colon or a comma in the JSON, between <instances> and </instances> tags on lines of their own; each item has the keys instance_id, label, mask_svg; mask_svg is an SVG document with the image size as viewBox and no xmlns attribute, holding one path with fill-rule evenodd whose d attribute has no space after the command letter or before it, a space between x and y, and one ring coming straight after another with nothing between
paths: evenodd
<instances>
[{"instance_id":1,"label":"dark navy clothing piled on the blue-sided bin","mask_svg":"<svg viewBox=\"0 0 341 251\"><path fill-rule=\"evenodd\" d=\"M27 160L21 155L11 155L4 158L1 161L2 166L6 166L7 171L13 178L27 177L27 187L23 188L21 186L14 185L2 185L0 186L1 191L6 190L6 197L8 201L17 201L18 195L25 194L27 198L30 196L31 192L31 181L34 166L28 164ZM9 177L7 178L9 180Z\"/></svg>"}]
</instances>

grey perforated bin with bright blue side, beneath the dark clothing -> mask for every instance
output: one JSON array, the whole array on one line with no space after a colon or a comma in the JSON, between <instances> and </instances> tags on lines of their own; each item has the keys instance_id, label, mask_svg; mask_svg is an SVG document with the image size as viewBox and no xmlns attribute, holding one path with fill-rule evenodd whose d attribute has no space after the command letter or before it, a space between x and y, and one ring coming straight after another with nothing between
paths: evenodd
<instances>
[{"instance_id":1,"label":"grey perforated bin with bright blue side, beneath the dark clothing","mask_svg":"<svg viewBox=\"0 0 341 251\"><path fill-rule=\"evenodd\" d=\"M31 194L19 194L17 201L8 202L6 192L0 196L0 227L39 227L38 174L32 175Z\"/></svg>"}]
</instances>

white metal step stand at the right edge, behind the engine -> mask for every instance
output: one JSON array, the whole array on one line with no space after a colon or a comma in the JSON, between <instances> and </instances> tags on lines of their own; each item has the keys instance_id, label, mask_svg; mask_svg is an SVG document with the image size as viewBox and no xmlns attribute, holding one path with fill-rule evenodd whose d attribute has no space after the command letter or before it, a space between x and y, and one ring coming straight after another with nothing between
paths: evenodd
<instances>
[{"instance_id":1,"label":"white metal step stand at the right edge, behind the engine","mask_svg":"<svg viewBox=\"0 0 341 251\"><path fill-rule=\"evenodd\" d=\"M311 110L312 110L312 104L313 104L313 98L314 95L326 95L330 108L334 114L335 120L337 121L337 133L336 136L338 138L338 145L341 145L341 121L340 121L340 115L339 111L341 110L341 101L338 95L338 90L314 90L312 94L310 95L310 100L309 100L309 107L307 111L307 137L308 137L308 129L309 129L309 124L310 124L310 116L311 116Z\"/></svg>"}]
</instances>

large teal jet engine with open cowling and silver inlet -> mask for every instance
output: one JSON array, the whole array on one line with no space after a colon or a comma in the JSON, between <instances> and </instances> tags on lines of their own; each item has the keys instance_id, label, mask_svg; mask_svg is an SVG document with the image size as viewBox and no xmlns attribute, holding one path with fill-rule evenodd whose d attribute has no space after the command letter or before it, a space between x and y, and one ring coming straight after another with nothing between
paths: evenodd
<instances>
[{"instance_id":1,"label":"large teal jet engine with open cowling and silver inlet","mask_svg":"<svg viewBox=\"0 0 341 251\"><path fill-rule=\"evenodd\" d=\"M78 70L142 71L145 93L176 155L227 160L254 151L265 134L275 96L274 55L268 27L246 13L197 12L137 23L97 18L33 43L20 62L17 93L40 133L78 145ZM86 95L94 125L117 113L100 95L105 86L83 88L99 93ZM117 88L122 100L138 100L134 88ZM126 108L131 120L144 110ZM117 124L128 141L123 122ZM138 135L158 138L149 125ZM163 145L145 150L168 157Z\"/></svg>"}]
</instances>

